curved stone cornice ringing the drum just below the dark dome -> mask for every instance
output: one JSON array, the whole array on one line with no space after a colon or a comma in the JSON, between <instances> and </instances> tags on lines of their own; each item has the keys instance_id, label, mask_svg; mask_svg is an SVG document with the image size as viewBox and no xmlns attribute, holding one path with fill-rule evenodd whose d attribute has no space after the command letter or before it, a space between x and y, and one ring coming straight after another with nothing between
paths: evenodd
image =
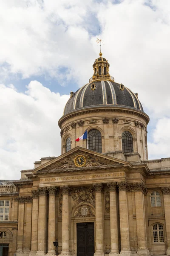
<instances>
[{"instance_id":1,"label":"curved stone cornice ringing the drum just below the dark dome","mask_svg":"<svg viewBox=\"0 0 170 256\"><path fill-rule=\"evenodd\" d=\"M123 106L123 105L109 105L109 106L104 106L104 105L94 105L94 106L89 106L89 107L83 107L83 108L78 108L77 110L71 111L70 113L65 114L64 116L62 116L59 121L58 121L58 125L59 128L61 129L62 124L68 120L73 118L74 116L79 116L79 115L83 115L86 113L94 113L94 112L124 112L124 113L131 113L133 115L142 117L146 123L148 124L149 122L149 116L147 116L146 113L144 113L143 111L136 109L136 108L130 108L127 106Z\"/></svg>"}]
</instances>

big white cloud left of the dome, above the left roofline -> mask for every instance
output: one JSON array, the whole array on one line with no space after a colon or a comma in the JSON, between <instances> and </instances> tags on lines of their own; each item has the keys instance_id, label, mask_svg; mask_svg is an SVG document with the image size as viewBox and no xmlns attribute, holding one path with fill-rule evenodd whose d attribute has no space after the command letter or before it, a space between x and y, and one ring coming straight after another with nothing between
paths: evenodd
<instances>
[{"instance_id":1,"label":"big white cloud left of the dome, above the left roofline","mask_svg":"<svg viewBox=\"0 0 170 256\"><path fill-rule=\"evenodd\" d=\"M61 154L58 119L69 96L31 81L26 94L0 85L0 179L20 179L41 157Z\"/></svg>"}]
</instances>

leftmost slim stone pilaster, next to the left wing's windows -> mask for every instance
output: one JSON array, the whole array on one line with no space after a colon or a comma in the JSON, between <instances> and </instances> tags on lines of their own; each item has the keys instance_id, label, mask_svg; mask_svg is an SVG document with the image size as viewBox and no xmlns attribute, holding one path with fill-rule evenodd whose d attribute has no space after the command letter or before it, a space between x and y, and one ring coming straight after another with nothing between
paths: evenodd
<instances>
[{"instance_id":1,"label":"leftmost slim stone pilaster, next to the left wing's windows","mask_svg":"<svg viewBox=\"0 0 170 256\"><path fill-rule=\"evenodd\" d=\"M16 255L23 253L23 230L24 230L24 197L18 198L18 235Z\"/></svg>"}]
</instances>

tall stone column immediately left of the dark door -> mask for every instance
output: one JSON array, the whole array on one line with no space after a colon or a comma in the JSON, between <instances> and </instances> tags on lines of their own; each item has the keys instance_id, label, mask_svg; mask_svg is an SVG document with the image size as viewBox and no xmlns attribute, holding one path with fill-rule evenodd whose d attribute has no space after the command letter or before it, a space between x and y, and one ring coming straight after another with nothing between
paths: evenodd
<instances>
[{"instance_id":1,"label":"tall stone column immediately left of the dark door","mask_svg":"<svg viewBox=\"0 0 170 256\"><path fill-rule=\"evenodd\" d=\"M69 188L68 186L61 187L62 189L62 252L61 255L71 255L69 250Z\"/></svg>"}]
</instances>

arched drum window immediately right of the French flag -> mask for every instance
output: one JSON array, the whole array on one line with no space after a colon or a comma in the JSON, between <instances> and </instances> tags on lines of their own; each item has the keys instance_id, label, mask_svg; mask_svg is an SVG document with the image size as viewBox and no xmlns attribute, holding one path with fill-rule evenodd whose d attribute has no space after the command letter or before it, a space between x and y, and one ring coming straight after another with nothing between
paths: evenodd
<instances>
[{"instance_id":1,"label":"arched drum window immediately right of the French flag","mask_svg":"<svg viewBox=\"0 0 170 256\"><path fill-rule=\"evenodd\" d=\"M88 132L88 149L102 153L102 136L96 129Z\"/></svg>"}]
</instances>

